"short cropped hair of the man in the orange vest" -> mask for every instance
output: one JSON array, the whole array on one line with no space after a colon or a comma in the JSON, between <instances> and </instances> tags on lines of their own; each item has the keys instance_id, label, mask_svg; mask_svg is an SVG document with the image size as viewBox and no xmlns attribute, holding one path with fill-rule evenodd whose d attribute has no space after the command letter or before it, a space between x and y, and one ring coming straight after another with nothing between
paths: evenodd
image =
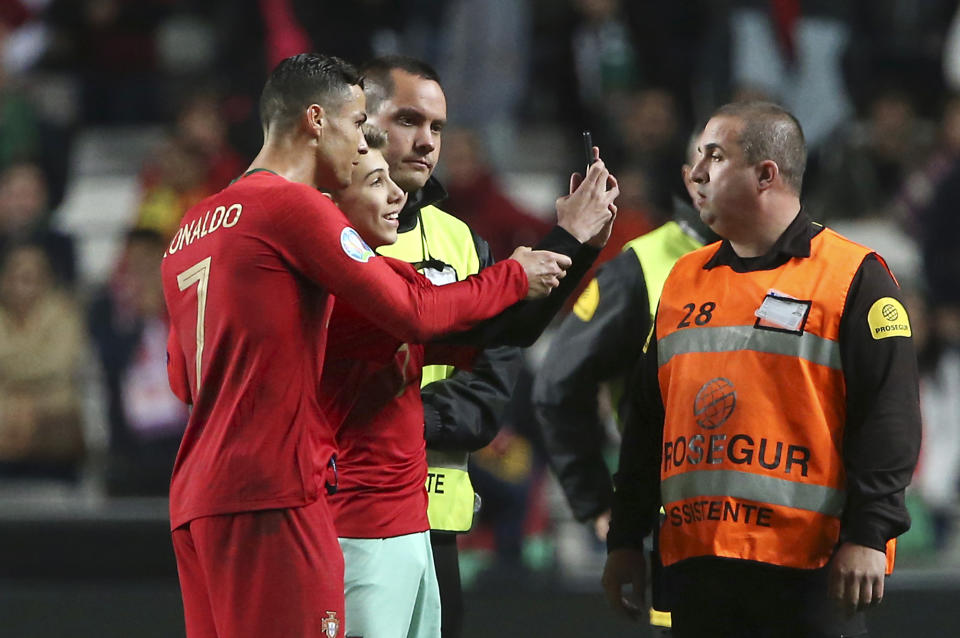
<instances>
[{"instance_id":1,"label":"short cropped hair of the man in the orange vest","mask_svg":"<svg viewBox=\"0 0 960 638\"><path fill-rule=\"evenodd\" d=\"M743 121L740 146L747 162L773 160L784 182L798 195L807 166L807 144L796 117L773 102L732 102L721 106L711 117L736 117Z\"/></svg>"}]
</instances>

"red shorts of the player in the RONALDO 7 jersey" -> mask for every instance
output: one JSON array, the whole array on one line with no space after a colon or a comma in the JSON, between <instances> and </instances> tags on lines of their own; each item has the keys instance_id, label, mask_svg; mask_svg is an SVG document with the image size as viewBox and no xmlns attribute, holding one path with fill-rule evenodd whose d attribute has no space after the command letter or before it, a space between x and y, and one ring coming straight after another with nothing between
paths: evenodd
<instances>
[{"instance_id":1,"label":"red shorts of the player in the RONALDO 7 jersey","mask_svg":"<svg viewBox=\"0 0 960 638\"><path fill-rule=\"evenodd\" d=\"M187 638L343 635L343 554L326 499L173 531Z\"/></svg>"}]
</instances>

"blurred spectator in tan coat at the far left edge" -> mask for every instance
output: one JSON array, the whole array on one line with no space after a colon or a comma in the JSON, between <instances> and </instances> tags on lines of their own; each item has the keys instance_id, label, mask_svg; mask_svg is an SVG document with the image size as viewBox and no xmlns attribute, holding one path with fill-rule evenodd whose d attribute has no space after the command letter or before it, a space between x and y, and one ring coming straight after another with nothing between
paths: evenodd
<instances>
[{"instance_id":1,"label":"blurred spectator in tan coat at the far left edge","mask_svg":"<svg viewBox=\"0 0 960 638\"><path fill-rule=\"evenodd\" d=\"M81 314L43 248L8 248L0 267L0 476L75 481L84 459Z\"/></svg>"}]
</instances>

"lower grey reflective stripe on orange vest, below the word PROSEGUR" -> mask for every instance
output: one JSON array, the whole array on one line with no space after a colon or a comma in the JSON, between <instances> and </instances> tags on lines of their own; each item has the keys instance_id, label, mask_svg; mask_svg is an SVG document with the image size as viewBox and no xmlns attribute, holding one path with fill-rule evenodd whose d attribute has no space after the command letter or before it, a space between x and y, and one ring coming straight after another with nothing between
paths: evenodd
<instances>
[{"instance_id":1,"label":"lower grey reflective stripe on orange vest, below the word PROSEGUR","mask_svg":"<svg viewBox=\"0 0 960 638\"><path fill-rule=\"evenodd\" d=\"M843 490L736 470L683 472L663 479L660 495L667 504L698 496L731 496L827 516L840 516L846 502Z\"/></svg>"}]
</instances>

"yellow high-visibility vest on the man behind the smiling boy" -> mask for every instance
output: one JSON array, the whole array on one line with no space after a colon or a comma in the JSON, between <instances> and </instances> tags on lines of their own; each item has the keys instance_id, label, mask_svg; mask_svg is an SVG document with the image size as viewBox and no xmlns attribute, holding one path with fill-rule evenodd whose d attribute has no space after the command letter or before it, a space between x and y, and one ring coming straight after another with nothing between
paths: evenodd
<instances>
[{"instance_id":1,"label":"yellow high-visibility vest on the man behind the smiling boy","mask_svg":"<svg viewBox=\"0 0 960 638\"><path fill-rule=\"evenodd\" d=\"M395 244L383 246L378 252L411 264L422 264L430 259L443 262L447 266L443 271L420 269L433 283L440 285L460 281L480 270L480 257L470 227L436 206L421 208L417 225L401 233ZM424 367L421 387L446 379L453 370L453 366ZM430 529L466 532L473 526L477 496L467 473L469 456L466 451L440 452L427 448Z\"/></svg>"}]
</instances>

